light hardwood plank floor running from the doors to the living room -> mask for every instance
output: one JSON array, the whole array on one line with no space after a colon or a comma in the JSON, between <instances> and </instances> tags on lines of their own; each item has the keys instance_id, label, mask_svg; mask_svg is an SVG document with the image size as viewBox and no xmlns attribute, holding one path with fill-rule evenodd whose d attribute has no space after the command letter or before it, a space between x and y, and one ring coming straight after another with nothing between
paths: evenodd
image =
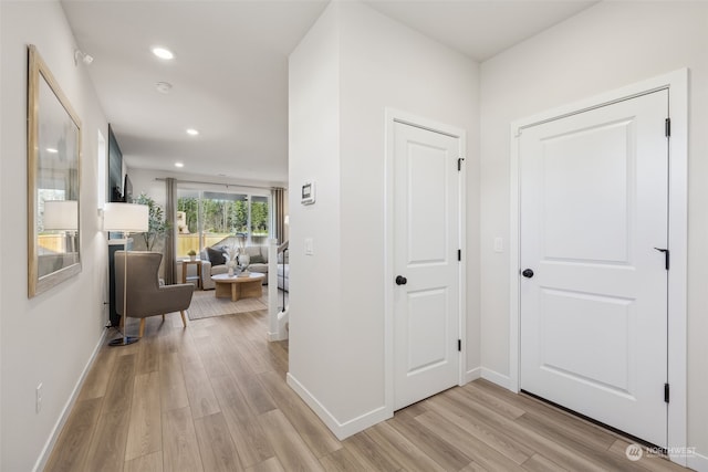
<instances>
[{"instance_id":1,"label":"light hardwood plank floor running from the doors to the living room","mask_svg":"<svg viewBox=\"0 0 708 472\"><path fill-rule=\"evenodd\" d=\"M135 326L132 327L135 329ZM266 312L147 321L104 347L46 471L678 471L525 396L477 380L339 441L285 385Z\"/></svg>"}]
</instances>

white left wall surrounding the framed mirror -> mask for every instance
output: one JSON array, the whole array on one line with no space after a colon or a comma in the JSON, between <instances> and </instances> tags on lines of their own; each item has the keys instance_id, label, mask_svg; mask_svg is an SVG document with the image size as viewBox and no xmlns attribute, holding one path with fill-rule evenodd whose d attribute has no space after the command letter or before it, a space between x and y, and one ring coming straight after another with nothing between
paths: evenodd
<instances>
[{"instance_id":1,"label":"white left wall surrounding the framed mirror","mask_svg":"<svg viewBox=\"0 0 708 472\"><path fill-rule=\"evenodd\" d=\"M97 129L107 124L59 2L0 2L0 360L3 471L32 470L107 322L107 247L96 209ZM32 43L82 120L82 272L27 297L27 44ZM11 229L11 230L10 230ZM43 384L42 411L34 390Z\"/></svg>"}]
</instances>

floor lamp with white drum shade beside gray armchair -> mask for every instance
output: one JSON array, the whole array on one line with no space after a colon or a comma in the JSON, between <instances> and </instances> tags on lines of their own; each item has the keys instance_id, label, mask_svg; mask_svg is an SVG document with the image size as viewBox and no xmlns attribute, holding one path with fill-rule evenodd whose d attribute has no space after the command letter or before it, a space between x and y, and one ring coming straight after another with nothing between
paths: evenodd
<instances>
[{"instance_id":1,"label":"floor lamp with white drum shade beside gray armchair","mask_svg":"<svg viewBox=\"0 0 708 472\"><path fill-rule=\"evenodd\" d=\"M127 326L127 295L128 295L128 235L142 233L148 230L148 208L146 204L135 203L106 203L103 207L103 230L122 232L125 240L123 265L123 336L108 343L110 346L127 346L137 343L139 337L126 336Z\"/></svg>"}]
</instances>

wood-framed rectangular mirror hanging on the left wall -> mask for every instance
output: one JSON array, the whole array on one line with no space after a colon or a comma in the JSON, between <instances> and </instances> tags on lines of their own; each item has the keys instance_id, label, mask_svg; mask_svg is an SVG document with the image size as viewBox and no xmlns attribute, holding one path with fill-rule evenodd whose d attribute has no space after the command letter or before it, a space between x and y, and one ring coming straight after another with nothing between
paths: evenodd
<instances>
[{"instance_id":1,"label":"wood-framed rectangular mirror hanging on the left wall","mask_svg":"<svg viewBox=\"0 0 708 472\"><path fill-rule=\"evenodd\" d=\"M81 272L81 122L28 46L28 296Z\"/></svg>"}]
</instances>

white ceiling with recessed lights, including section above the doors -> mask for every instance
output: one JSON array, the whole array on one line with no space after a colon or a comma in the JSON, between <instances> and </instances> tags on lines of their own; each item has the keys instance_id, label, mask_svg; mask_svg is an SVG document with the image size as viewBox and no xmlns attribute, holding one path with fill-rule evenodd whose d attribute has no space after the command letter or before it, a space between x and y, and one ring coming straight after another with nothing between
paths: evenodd
<instances>
[{"instance_id":1,"label":"white ceiling with recessed lights, including section above the doors","mask_svg":"<svg viewBox=\"0 0 708 472\"><path fill-rule=\"evenodd\" d=\"M480 62L595 2L367 1ZM61 3L129 167L287 183L288 55L329 0ZM156 59L154 45L175 60Z\"/></svg>"}]
</instances>

